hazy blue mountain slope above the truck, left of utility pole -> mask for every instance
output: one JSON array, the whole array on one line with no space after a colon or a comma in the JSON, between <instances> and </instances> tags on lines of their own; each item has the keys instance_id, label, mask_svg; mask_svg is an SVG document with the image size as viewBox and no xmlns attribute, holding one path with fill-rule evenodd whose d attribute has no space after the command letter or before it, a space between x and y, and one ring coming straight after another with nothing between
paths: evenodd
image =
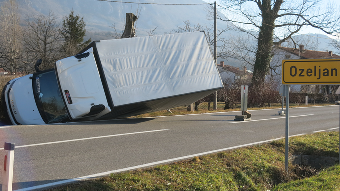
<instances>
[{"instance_id":1,"label":"hazy blue mountain slope above the truck, left of utility pole","mask_svg":"<svg viewBox=\"0 0 340 191\"><path fill-rule=\"evenodd\" d=\"M0 0L3 2L6 0ZM113 32L110 27L115 25L118 32L124 29L125 13L132 12L138 15L137 35L145 36L157 27L157 34L164 34L182 26L183 21L189 20L192 25L213 24L208 20L210 5L202 0L115 0L122 2L107 2L98 0L17 0L22 19L29 16L44 14L50 11L62 20L71 10L84 18L86 30L91 33ZM152 4L153 3L153 4ZM205 4L205 5L156 5L157 4ZM218 26L226 27L225 22L218 21ZM93 39L99 40L99 39Z\"/></svg>"}]
</instances>

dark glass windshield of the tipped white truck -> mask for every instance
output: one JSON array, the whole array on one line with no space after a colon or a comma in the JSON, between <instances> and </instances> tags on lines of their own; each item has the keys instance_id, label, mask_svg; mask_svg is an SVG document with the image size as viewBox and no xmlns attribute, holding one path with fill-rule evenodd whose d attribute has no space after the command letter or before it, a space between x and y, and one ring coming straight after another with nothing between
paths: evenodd
<instances>
[{"instance_id":1,"label":"dark glass windshield of the tipped white truck","mask_svg":"<svg viewBox=\"0 0 340 191\"><path fill-rule=\"evenodd\" d=\"M69 121L54 69L33 74L32 82L35 102L44 122Z\"/></svg>"}]
</instances>

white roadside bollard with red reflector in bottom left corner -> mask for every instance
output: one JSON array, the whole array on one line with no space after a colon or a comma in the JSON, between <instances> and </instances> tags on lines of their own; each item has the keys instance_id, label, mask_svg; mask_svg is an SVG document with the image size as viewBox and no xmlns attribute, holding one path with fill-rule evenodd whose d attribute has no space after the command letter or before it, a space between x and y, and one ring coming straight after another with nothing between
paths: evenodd
<instances>
[{"instance_id":1,"label":"white roadside bollard with red reflector in bottom left corner","mask_svg":"<svg viewBox=\"0 0 340 191\"><path fill-rule=\"evenodd\" d=\"M4 143L4 163L2 176L2 191L12 191L14 169L14 143Z\"/></svg>"}]
</instances>

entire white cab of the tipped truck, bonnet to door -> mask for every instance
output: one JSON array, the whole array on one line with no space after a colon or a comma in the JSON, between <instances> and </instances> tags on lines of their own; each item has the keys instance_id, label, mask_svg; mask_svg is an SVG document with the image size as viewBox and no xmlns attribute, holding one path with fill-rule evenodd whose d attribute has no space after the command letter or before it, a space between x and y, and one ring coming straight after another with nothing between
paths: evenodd
<instances>
[{"instance_id":1,"label":"entire white cab of the tipped truck, bonnet to door","mask_svg":"<svg viewBox=\"0 0 340 191\"><path fill-rule=\"evenodd\" d=\"M92 52L64 58L56 68L9 81L2 92L11 124L93 120L110 112Z\"/></svg>"}]
</instances>

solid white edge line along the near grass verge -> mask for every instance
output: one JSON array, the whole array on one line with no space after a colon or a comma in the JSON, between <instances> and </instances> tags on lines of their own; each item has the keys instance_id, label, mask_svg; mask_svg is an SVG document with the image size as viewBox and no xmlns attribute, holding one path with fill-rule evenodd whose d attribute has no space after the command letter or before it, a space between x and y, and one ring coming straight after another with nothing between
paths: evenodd
<instances>
[{"instance_id":1,"label":"solid white edge line along the near grass verge","mask_svg":"<svg viewBox=\"0 0 340 191\"><path fill-rule=\"evenodd\" d=\"M292 135L292 136L289 136L289 137L300 136L300 135L305 135L305 134L297 134L297 135ZM282 138L284 138L284 137L282 137ZM152 163L132 166L132 167L128 167L128 168L122 168L122 169L118 169L118 170L112 170L112 171L92 174L92 175L88 175L88 176L83 176L83 177L78 177L78 178L73 178L73 179L67 179L67 180L43 184L43 185L37 185L37 186L33 186L33 187L27 187L27 188L23 188L23 189L18 189L16 191L29 191L29 190L34 190L34 189L42 189L42 188L46 188L46 187L71 183L71 182L75 182L75 181L86 180L86 179L96 178L96 177L102 177L102 176L109 175L111 173L118 173L118 172L123 172L123 171L135 170L135 169L150 167L150 166L159 165L159 164L163 164L163 163L169 163L169 162L184 160L184 159L188 159L188 158L193 158L193 157L196 157L196 156L212 154L212 153L216 153L216 152L222 152L222 151L226 151L226 150L232 150L232 149L236 149L236 148L252 146L252 145L257 145L257 144L263 144L263 143L267 143L267 142L272 142L273 140L279 140L279 139L282 139L282 138L275 138L275 139L272 139L272 140L265 140L265 141L250 143L250 144L243 144L243 145L233 146L233 147L229 147L229 148L223 148L223 149L219 149L219 150L212 150L212 151L208 151L208 152L202 152L202 153L198 153L198 154L192 154L192 155L188 155L188 156L172 158L172 159L168 159L168 160L162 160L162 161L158 161L158 162L152 162Z\"/></svg>"}]
</instances>

